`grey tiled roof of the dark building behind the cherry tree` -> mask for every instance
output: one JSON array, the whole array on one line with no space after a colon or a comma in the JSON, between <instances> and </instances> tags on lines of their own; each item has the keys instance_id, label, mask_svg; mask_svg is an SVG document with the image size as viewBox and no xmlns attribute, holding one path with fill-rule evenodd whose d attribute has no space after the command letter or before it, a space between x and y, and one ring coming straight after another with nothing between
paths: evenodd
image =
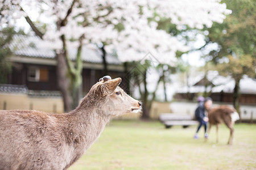
<instances>
[{"instance_id":1,"label":"grey tiled roof of the dark building behind the cherry tree","mask_svg":"<svg viewBox=\"0 0 256 170\"><path fill-rule=\"evenodd\" d=\"M55 58L55 52L50 49L43 40L38 36L15 35L10 45L14 54L17 56L38 57L38 58ZM76 58L77 49L68 49L71 59ZM82 61L90 63L102 63L101 51L98 49L89 49L86 46L82 48ZM117 57L106 54L106 62L109 64L120 65L121 62Z\"/></svg>"}]
</instances>

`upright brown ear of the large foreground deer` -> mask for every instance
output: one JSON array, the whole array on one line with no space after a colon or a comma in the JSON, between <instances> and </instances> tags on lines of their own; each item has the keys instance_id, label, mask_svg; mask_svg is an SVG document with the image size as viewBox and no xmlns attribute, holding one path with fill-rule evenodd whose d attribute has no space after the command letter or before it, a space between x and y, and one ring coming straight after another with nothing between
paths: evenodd
<instances>
[{"instance_id":1,"label":"upright brown ear of the large foreground deer","mask_svg":"<svg viewBox=\"0 0 256 170\"><path fill-rule=\"evenodd\" d=\"M113 80L108 80L101 84L101 89L104 95L113 94L115 88L121 83L121 78L115 78Z\"/></svg>"}]
</instances>

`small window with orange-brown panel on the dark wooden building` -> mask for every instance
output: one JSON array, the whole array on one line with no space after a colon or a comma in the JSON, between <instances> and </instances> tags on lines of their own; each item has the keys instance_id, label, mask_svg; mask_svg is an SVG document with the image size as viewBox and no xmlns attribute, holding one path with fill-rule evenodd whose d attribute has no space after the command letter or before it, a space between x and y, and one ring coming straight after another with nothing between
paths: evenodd
<instances>
[{"instance_id":1,"label":"small window with orange-brown panel on the dark wooden building","mask_svg":"<svg viewBox=\"0 0 256 170\"><path fill-rule=\"evenodd\" d=\"M30 82L47 82L48 70L40 69L38 67L28 68L27 79Z\"/></svg>"}]
</instances>

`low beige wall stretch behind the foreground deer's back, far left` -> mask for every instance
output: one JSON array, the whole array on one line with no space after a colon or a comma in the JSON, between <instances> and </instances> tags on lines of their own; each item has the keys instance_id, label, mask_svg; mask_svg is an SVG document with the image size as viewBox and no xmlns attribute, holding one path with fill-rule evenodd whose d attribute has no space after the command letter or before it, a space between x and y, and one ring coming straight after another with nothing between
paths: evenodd
<instances>
[{"instance_id":1,"label":"low beige wall stretch behind the foreground deer's back, far left","mask_svg":"<svg viewBox=\"0 0 256 170\"><path fill-rule=\"evenodd\" d=\"M44 112L64 112L61 97L29 97L27 94L11 93L0 93L0 109L35 109Z\"/></svg>"}]
</instances>

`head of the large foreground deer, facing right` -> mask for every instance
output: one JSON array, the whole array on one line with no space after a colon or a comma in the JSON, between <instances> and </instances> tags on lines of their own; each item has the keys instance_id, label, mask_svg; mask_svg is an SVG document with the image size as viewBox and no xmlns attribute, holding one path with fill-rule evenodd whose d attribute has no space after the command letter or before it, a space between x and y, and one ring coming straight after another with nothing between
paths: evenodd
<instances>
[{"instance_id":1,"label":"head of the large foreground deer, facing right","mask_svg":"<svg viewBox=\"0 0 256 170\"><path fill-rule=\"evenodd\" d=\"M118 87L121 81L121 78L111 79L110 76L104 76L89 92L97 97L97 109L99 112L104 111L106 116L115 117L141 111L142 104Z\"/></svg>"}]
</instances>

